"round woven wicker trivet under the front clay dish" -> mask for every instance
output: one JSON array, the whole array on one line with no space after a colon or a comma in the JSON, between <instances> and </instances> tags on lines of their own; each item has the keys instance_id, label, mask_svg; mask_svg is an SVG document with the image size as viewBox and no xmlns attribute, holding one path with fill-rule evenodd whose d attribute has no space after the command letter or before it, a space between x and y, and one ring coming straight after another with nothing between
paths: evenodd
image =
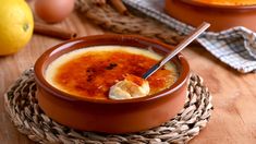
<instances>
[{"instance_id":1,"label":"round woven wicker trivet under the front clay dish","mask_svg":"<svg viewBox=\"0 0 256 144\"><path fill-rule=\"evenodd\" d=\"M17 130L39 143L186 143L206 127L212 110L211 95L203 79L192 74L187 86L187 101L184 109L162 125L144 132L129 134L99 134L75 131L48 118L35 98L34 71L29 69L4 95L4 106Z\"/></svg>"}]
</instances>

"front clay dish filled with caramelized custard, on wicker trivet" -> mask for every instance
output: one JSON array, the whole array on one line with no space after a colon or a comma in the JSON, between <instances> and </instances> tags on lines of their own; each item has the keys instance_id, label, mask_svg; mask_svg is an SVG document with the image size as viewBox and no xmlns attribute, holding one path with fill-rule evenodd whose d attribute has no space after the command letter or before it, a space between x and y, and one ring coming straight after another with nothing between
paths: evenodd
<instances>
[{"instance_id":1,"label":"front clay dish filled with caramelized custard, on wicker trivet","mask_svg":"<svg viewBox=\"0 0 256 144\"><path fill-rule=\"evenodd\" d=\"M117 98L114 93L111 97L110 88L122 80L134 80L131 75L142 76L170 49L131 35L88 36L60 44L35 64L38 104L47 116L77 130L127 133L155 128L184 106L190 67L182 55L148 77L146 96ZM135 85L141 85L137 77Z\"/></svg>"}]
</instances>

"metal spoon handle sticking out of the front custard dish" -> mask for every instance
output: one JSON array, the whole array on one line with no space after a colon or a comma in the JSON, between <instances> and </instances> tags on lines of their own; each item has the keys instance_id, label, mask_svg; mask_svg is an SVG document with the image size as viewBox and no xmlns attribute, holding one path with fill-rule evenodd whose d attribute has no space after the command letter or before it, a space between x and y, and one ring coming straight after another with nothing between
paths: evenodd
<instances>
[{"instance_id":1,"label":"metal spoon handle sticking out of the front custard dish","mask_svg":"<svg viewBox=\"0 0 256 144\"><path fill-rule=\"evenodd\" d=\"M182 40L176 48L168 53L163 59L161 59L158 63L153 65L147 72L143 74L143 79L149 77L154 74L158 69L164 65L170 59L172 59L176 53L183 50L187 45L190 45L195 38L197 38L203 32L205 32L210 26L209 23L202 23L188 37Z\"/></svg>"}]
</instances>

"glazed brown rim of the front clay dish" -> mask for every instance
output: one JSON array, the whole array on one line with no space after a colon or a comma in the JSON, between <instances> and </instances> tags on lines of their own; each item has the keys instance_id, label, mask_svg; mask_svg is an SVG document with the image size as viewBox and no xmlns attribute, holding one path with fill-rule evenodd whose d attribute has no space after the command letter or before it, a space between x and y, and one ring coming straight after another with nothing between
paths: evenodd
<instances>
[{"instance_id":1,"label":"glazed brown rim of the front clay dish","mask_svg":"<svg viewBox=\"0 0 256 144\"><path fill-rule=\"evenodd\" d=\"M188 62L186 61L186 59L184 58L183 55L178 53L175 56L175 58L178 59L178 63L181 64L181 69L182 71L180 72L180 76L176 80L176 82L174 84L172 84L169 88L161 91L157 94L154 95L149 95L149 96L145 96L145 97L139 97L139 98L133 98L133 99L123 99L123 100L112 100L112 99L93 99L93 98L86 98L86 97L78 97L78 96L74 96L71 94L68 94L65 92L62 92L56 87L53 87L51 84L49 84L45 76L45 70L47 69L48 64L50 63L50 58L56 57L56 53L62 53L63 50L71 48L72 46L75 47L74 49L78 49L82 47L75 46L75 45L80 45L86 41L92 41L92 40L99 40L99 43L96 43L94 46L100 46L100 40L105 40L105 41L111 41L111 40L118 40L119 44L114 44L112 43L111 45L120 45L120 40L123 41L123 46L132 46L132 47L136 47L133 46L131 44L127 44L127 40L134 40L138 44L143 44L143 45L147 45L148 47L156 47L157 49L160 50L167 50L168 49L173 49L173 47L162 44L158 40L154 40L154 39L149 39L149 38L145 38L142 36L135 36L135 35L95 35L95 36L86 36L86 37L81 37L81 38L75 38L75 39L71 39L68 40L65 43L59 44L52 48L50 48L49 50L45 51L36 61L34 70L35 70L35 79L36 82L38 84L38 86L40 86L41 88L44 88L45 91L47 91L48 93L50 93L53 96L58 96L60 98L63 99L68 99L68 100L81 100L81 101L90 101L90 103L103 103L103 104L122 104L122 103L139 103L139 101L147 101L147 100L153 100L156 98L160 98L163 97L166 95L169 95L173 92L175 92L176 89L179 89L182 85L186 84L186 80L190 74L190 65ZM125 43L126 40L126 43ZM106 45L106 44L105 44ZM121 44L122 45L122 44ZM103 46L103 45L101 45ZM90 47L90 46L88 46ZM84 47L83 47L84 48ZM74 50L73 49L73 50ZM63 53L62 53L63 55ZM58 57L56 57L58 58ZM53 58L53 59L56 59ZM47 64L48 63L48 64ZM178 68L179 70L179 68Z\"/></svg>"}]
</instances>

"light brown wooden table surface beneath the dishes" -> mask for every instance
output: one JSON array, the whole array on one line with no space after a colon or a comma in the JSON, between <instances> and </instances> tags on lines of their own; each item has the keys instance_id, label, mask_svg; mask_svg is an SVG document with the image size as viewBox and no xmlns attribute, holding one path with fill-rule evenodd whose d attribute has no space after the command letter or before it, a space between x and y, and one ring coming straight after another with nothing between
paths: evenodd
<instances>
[{"instance_id":1,"label":"light brown wooden table surface beneath the dishes","mask_svg":"<svg viewBox=\"0 0 256 144\"><path fill-rule=\"evenodd\" d=\"M103 33L75 13L54 26L75 31L80 36ZM61 41L34 35L29 44L17 53L0 57L0 143L33 143L13 127L4 111L3 94L45 50ZM256 74L241 74L199 46L185 49L183 55L190 61L192 71L204 77L214 96L215 106L210 122L191 143L256 143Z\"/></svg>"}]
</instances>

